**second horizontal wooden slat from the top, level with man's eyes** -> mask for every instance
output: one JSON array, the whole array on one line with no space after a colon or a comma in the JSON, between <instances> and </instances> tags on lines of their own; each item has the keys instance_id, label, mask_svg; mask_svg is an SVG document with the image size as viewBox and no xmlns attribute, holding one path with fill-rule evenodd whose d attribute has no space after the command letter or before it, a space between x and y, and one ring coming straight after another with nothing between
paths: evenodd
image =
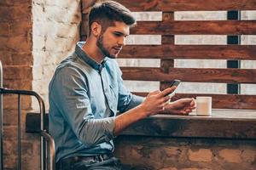
<instances>
[{"instance_id":1,"label":"second horizontal wooden slat from the top, level with man's eyes","mask_svg":"<svg viewBox=\"0 0 256 170\"><path fill-rule=\"evenodd\" d=\"M141 21L131 34L151 35L253 35L256 20Z\"/></svg>"}]
</instances>

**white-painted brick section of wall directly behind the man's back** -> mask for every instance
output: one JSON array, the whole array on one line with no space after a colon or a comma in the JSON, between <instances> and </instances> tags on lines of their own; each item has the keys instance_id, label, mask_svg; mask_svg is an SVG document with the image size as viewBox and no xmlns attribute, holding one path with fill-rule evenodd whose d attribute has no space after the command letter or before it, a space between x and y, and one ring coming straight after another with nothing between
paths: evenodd
<instances>
[{"instance_id":1,"label":"white-painted brick section of wall directly behind the man's back","mask_svg":"<svg viewBox=\"0 0 256 170\"><path fill-rule=\"evenodd\" d=\"M32 88L41 94L48 108L48 84L55 65L73 52L79 41L80 2L33 0L32 16Z\"/></svg>"}]
</instances>

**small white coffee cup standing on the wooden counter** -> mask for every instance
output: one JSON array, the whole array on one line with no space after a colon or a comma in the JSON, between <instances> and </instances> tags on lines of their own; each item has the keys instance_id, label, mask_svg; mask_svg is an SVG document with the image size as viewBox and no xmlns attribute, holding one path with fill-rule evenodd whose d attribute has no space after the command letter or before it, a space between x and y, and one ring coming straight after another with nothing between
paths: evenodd
<instances>
[{"instance_id":1,"label":"small white coffee cup standing on the wooden counter","mask_svg":"<svg viewBox=\"0 0 256 170\"><path fill-rule=\"evenodd\" d=\"M196 115L212 115L212 97L196 97Z\"/></svg>"}]
</instances>

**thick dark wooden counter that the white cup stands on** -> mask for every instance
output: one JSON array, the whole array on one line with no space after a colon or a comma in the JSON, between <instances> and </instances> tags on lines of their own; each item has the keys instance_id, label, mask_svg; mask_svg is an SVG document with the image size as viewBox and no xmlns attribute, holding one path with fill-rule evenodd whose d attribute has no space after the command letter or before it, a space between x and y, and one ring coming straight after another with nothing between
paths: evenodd
<instances>
[{"instance_id":1,"label":"thick dark wooden counter that the white cup stands on","mask_svg":"<svg viewBox=\"0 0 256 170\"><path fill-rule=\"evenodd\" d=\"M255 111L216 110L212 116L149 116L121 134L158 137L256 139ZM45 127L48 130L48 114ZM40 114L26 114L26 133L40 132Z\"/></svg>"}]
</instances>

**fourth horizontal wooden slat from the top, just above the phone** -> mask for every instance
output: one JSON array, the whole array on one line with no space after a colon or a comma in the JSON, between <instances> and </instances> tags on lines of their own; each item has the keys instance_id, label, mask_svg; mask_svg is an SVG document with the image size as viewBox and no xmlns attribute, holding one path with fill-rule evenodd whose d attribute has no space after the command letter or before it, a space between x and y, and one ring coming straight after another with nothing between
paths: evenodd
<instances>
[{"instance_id":1,"label":"fourth horizontal wooden slat from the top, just above the phone","mask_svg":"<svg viewBox=\"0 0 256 170\"><path fill-rule=\"evenodd\" d=\"M177 78L183 82L256 82L256 69L170 68L169 73L149 67L121 67L121 70L125 80L168 82Z\"/></svg>"}]
</instances>

